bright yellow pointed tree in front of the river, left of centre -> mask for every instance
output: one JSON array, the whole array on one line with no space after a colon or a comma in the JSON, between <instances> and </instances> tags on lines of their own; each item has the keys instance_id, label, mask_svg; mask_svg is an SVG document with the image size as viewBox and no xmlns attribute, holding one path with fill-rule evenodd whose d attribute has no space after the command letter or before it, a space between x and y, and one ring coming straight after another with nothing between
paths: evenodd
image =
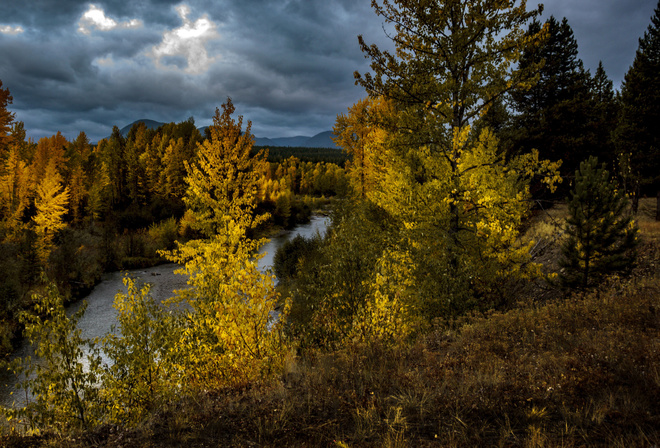
<instances>
[{"instance_id":1,"label":"bright yellow pointed tree in front of the river, left of centre","mask_svg":"<svg viewBox=\"0 0 660 448\"><path fill-rule=\"evenodd\" d=\"M281 305L272 274L261 272L256 252L264 240L248 231L267 219L256 215L259 173L266 155L252 156L251 124L232 118L231 99L216 109L210 139L186 163L184 200L193 225L205 236L167 253L184 265L190 288L179 292L189 305L172 359L181 384L212 388L255 381L277 371L284 344L274 310Z\"/></svg>"}]
</instances>

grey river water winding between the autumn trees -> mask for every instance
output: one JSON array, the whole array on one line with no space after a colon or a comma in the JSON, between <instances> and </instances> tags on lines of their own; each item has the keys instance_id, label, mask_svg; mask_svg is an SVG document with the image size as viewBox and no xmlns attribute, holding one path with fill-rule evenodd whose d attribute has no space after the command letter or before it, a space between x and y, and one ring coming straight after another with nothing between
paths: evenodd
<instances>
[{"instance_id":1,"label":"grey river water winding between the autumn trees","mask_svg":"<svg viewBox=\"0 0 660 448\"><path fill-rule=\"evenodd\" d=\"M309 223L299 225L290 232L270 238L270 242L259 250L259 253L263 254L263 257L259 260L259 268L262 271L272 268L275 252L286 241L297 235L307 238L314 236L317 232L323 235L329 223L329 218L314 216ZM178 267L175 264L163 264L147 269L105 274L101 283L84 298L87 302L87 310L78 322L78 328L82 330L82 337L88 339L102 338L112 331L113 325L117 323L116 311L113 308L114 298L118 292L126 293L123 284L126 273L139 281L150 283L152 297L157 301L163 301L173 297L174 291L187 286L187 278L174 273ZM67 313L74 313L82 303L83 301L80 300L71 304L67 308ZM32 346L24 340L14 353L13 358L33 356L33 353ZM14 401L19 403L22 401L20 397L13 395L12 391L16 391L16 378L6 372L0 372L0 406L11 407Z\"/></svg>"}]
</instances>

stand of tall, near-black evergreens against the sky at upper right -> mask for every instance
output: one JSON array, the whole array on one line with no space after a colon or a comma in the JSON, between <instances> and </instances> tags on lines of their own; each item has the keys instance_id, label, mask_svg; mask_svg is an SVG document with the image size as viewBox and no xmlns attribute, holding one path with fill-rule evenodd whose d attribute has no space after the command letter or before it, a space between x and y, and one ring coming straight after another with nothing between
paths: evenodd
<instances>
[{"instance_id":1,"label":"stand of tall, near-black evergreens against the sky at upper right","mask_svg":"<svg viewBox=\"0 0 660 448\"><path fill-rule=\"evenodd\" d=\"M535 67L533 85L494 99L483 126L494 130L509 156L535 148L542 158L562 161L564 182L551 198L563 199L589 156L607 164L635 210L641 196L655 197L660 190L659 26L656 15L616 91L602 62L594 73L584 68L566 18L528 27L528 37L544 35L520 58L521 69Z\"/></svg>"}]
</instances>

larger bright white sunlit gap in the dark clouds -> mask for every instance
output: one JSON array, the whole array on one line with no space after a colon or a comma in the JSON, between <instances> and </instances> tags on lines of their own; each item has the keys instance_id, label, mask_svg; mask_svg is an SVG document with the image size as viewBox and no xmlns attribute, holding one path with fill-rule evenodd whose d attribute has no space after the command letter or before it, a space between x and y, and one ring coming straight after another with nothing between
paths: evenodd
<instances>
[{"instance_id":1,"label":"larger bright white sunlit gap in the dark clouds","mask_svg":"<svg viewBox=\"0 0 660 448\"><path fill-rule=\"evenodd\" d=\"M206 44L217 39L216 24L205 14L194 22L188 18L190 7L181 4L176 7L183 25L179 28L166 31L163 41L153 48L151 56L160 68L183 68L190 74L206 72L217 58L209 56ZM185 64L173 63L184 61ZM184 65L184 67L182 67Z\"/></svg>"}]
</instances>

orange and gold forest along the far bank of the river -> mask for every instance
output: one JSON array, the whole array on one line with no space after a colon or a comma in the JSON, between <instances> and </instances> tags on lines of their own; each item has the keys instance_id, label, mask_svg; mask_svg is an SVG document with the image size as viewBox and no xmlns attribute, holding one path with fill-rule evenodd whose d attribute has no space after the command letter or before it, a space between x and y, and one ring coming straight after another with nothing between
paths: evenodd
<instances>
[{"instance_id":1,"label":"orange and gold forest along the far bank of the river","mask_svg":"<svg viewBox=\"0 0 660 448\"><path fill-rule=\"evenodd\" d=\"M0 84L1 87L1 84ZM124 137L92 145L84 132L38 142L7 109L0 88L0 319L3 347L15 331L15 312L42 276L66 297L80 297L103 272L158 263L158 251L198 236L186 215L189 164L205 141L192 119L148 129L137 123ZM259 166L260 211L273 224L309 220L322 197L344 194L344 171L331 162L294 157Z\"/></svg>"}]
</instances>

